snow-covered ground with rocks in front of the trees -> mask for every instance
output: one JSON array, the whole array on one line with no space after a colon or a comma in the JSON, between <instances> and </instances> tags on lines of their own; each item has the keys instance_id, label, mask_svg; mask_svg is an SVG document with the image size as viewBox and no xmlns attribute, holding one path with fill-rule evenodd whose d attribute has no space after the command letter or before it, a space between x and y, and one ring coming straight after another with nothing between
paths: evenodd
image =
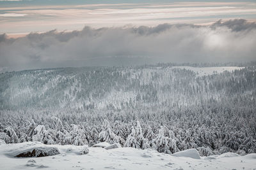
<instances>
[{"instance_id":1,"label":"snow-covered ground with rocks in front of the trees","mask_svg":"<svg viewBox=\"0 0 256 170\"><path fill-rule=\"evenodd\" d=\"M13 157L28 148L47 146L58 148L60 154L49 157ZM43 145L38 142L0 144L0 169L256 169L256 153L243 157L236 153L198 157L194 149L169 155L151 149L106 150L92 147L88 154L80 155L81 148L83 146Z\"/></svg>"}]
</instances>

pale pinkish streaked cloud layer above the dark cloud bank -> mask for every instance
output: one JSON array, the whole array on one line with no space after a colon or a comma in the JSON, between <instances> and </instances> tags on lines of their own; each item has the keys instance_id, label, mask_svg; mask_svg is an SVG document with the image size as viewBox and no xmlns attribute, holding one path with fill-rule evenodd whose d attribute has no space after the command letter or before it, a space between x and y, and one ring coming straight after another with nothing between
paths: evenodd
<instances>
[{"instance_id":1,"label":"pale pinkish streaked cloud layer above the dark cloud bank","mask_svg":"<svg viewBox=\"0 0 256 170\"><path fill-rule=\"evenodd\" d=\"M40 0L39 0L40 1ZM60 0L57 0L60 1ZM77 0L78 1L78 0ZM81 1L81 0L79 0ZM94 27L122 27L127 24L156 26L163 23L209 25L220 18L246 18L255 21L256 3L252 2L186 2L122 4L33 4L13 3L1 6L4 15L16 13L20 17L0 15L0 34L46 32L52 29L81 30L84 24ZM38 2L38 1L36 1ZM52 1L45 1L51 3ZM114 2L114 1L113 1ZM12 4L12 5L11 5ZM44 22L42 22L44 21Z\"/></svg>"}]
</instances>

